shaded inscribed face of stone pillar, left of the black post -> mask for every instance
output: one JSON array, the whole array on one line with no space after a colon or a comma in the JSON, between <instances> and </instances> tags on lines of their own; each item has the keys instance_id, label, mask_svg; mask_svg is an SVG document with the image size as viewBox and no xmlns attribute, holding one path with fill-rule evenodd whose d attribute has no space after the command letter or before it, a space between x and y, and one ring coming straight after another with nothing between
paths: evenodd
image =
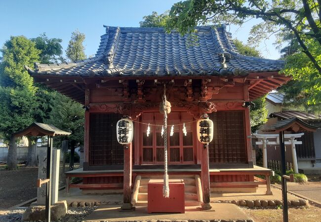
<instances>
[{"instance_id":1,"label":"shaded inscribed face of stone pillar, left of the black post","mask_svg":"<svg viewBox=\"0 0 321 222\"><path fill-rule=\"evenodd\" d=\"M45 180L47 177L47 150L39 150L38 179ZM36 186L36 183L35 183ZM46 185L38 187L37 204L44 205L46 201Z\"/></svg>"}]
</instances>

